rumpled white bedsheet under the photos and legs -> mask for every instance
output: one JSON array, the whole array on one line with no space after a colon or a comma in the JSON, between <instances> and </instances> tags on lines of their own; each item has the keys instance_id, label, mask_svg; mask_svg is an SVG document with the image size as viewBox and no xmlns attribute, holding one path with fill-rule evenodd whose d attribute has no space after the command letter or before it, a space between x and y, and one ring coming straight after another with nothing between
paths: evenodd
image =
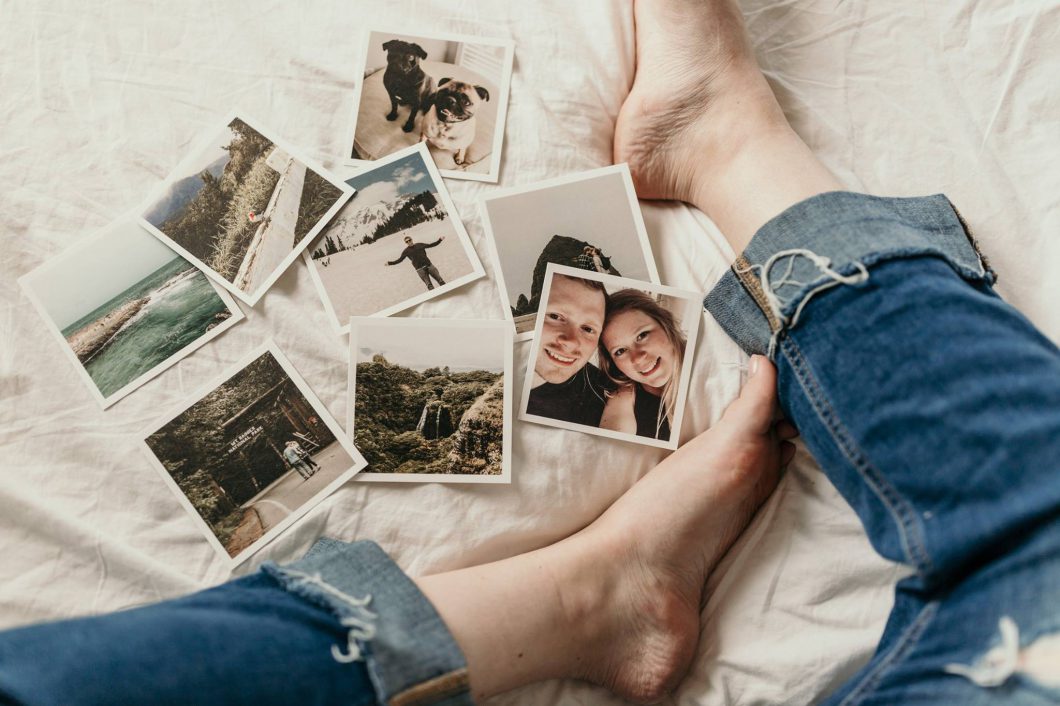
<instances>
[{"instance_id":1,"label":"rumpled white bedsheet under the photos and legs","mask_svg":"<svg viewBox=\"0 0 1060 706\"><path fill-rule=\"evenodd\" d=\"M1001 292L1060 337L1060 3L745 0L743 8L795 128L841 179L879 194L944 191L1000 272ZM344 341L301 263L258 306L244 306L248 321L106 412L15 280L134 208L233 106L337 163L366 22L514 38L500 186L610 163L634 69L625 2L0 4L0 625L225 578L137 434L264 338L344 418ZM484 255L474 202L493 187L448 186ZM664 282L708 289L731 255L712 225L681 205L643 210ZM499 318L493 287L480 280L411 315ZM743 358L705 317L683 438L736 394ZM511 487L348 484L254 563L295 558L322 534L374 539L412 573L497 559L582 526L662 457L522 423L514 453ZM819 700L870 655L900 572L872 553L801 455L711 580L700 652L673 702ZM495 703L618 700L551 683Z\"/></svg>"}]
</instances>

